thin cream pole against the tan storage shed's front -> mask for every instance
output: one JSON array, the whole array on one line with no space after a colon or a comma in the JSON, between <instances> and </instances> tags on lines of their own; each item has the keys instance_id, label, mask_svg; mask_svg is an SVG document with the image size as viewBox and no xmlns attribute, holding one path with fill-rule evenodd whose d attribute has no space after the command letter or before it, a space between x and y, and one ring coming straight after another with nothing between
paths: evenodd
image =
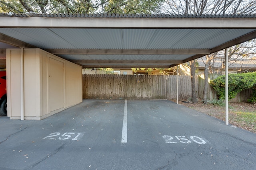
<instances>
[{"instance_id":1,"label":"thin cream pole against the tan storage shed's front","mask_svg":"<svg viewBox=\"0 0 256 170\"><path fill-rule=\"evenodd\" d=\"M24 49L20 49L20 120L24 120Z\"/></svg>"}]
</instances>

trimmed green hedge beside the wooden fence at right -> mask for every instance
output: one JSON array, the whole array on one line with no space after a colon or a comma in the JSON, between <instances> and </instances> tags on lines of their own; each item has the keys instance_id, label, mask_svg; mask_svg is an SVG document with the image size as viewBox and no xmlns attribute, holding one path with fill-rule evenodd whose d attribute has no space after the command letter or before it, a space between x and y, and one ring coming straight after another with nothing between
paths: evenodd
<instances>
[{"instance_id":1,"label":"trimmed green hedge beside the wooden fence at right","mask_svg":"<svg viewBox=\"0 0 256 170\"><path fill-rule=\"evenodd\" d=\"M211 80L210 84L217 92L219 98L225 98L225 75ZM256 102L256 72L228 74L228 98L236 97L236 94L245 89L252 90L252 96L248 102Z\"/></svg>"}]
</instances>

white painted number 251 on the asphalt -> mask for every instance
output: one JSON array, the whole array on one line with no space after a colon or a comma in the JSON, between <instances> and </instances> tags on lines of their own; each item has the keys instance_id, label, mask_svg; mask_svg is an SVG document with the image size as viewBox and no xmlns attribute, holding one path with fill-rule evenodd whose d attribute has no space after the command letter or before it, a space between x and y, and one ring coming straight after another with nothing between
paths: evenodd
<instances>
[{"instance_id":1,"label":"white painted number 251 on the asphalt","mask_svg":"<svg viewBox=\"0 0 256 170\"><path fill-rule=\"evenodd\" d=\"M73 141L78 140L79 137L82 137L82 135L84 135L84 133L74 133L74 132L66 132L63 133L62 135L59 132L54 132L51 133L50 135L48 135L47 137L43 138L43 139L49 139L49 140L67 140L72 138ZM59 137L60 136L60 137Z\"/></svg>"}]
</instances>

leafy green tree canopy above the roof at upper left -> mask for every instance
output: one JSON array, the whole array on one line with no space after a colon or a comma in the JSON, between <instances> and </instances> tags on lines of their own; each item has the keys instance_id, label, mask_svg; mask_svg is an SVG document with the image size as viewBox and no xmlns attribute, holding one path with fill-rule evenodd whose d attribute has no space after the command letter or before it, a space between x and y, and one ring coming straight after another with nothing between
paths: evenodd
<instances>
[{"instance_id":1,"label":"leafy green tree canopy above the roof at upper left","mask_svg":"<svg viewBox=\"0 0 256 170\"><path fill-rule=\"evenodd\" d=\"M0 0L0 12L159 13L164 0Z\"/></svg>"}]
</instances>

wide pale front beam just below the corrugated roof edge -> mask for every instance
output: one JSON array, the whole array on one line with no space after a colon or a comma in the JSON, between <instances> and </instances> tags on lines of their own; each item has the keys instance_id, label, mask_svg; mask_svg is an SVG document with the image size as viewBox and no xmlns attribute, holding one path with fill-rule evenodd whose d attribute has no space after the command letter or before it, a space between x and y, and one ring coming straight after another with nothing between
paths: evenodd
<instances>
[{"instance_id":1,"label":"wide pale front beam just below the corrugated roof edge","mask_svg":"<svg viewBox=\"0 0 256 170\"><path fill-rule=\"evenodd\" d=\"M0 17L0 27L19 28L256 28L255 18Z\"/></svg>"}]
</instances>

